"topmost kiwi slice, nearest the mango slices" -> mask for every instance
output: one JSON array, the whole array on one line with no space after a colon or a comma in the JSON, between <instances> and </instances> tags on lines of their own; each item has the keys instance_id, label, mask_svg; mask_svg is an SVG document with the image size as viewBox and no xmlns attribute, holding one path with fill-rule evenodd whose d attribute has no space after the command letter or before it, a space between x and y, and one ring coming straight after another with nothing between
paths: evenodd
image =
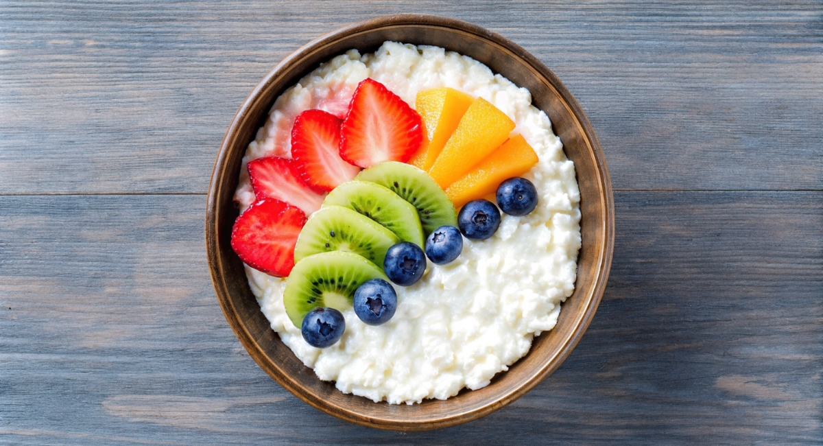
<instances>
[{"instance_id":1,"label":"topmost kiwi slice, nearest the mango slices","mask_svg":"<svg viewBox=\"0 0 823 446\"><path fill-rule=\"evenodd\" d=\"M458 225L458 212L449 196L435 183L435 179L413 165L387 161L361 170L355 179L385 186L412 203L426 236L440 226Z\"/></svg>"}]
</instances>

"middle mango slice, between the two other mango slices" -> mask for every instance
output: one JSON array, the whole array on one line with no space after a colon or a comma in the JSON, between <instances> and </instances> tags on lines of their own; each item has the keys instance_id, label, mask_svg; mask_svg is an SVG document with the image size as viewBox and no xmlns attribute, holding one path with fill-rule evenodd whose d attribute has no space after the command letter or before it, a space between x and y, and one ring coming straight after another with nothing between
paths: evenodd
<instances>
[{"instance_id":1,"label":"middle mango slice, between the two other mango slices","mask_svg":"<svg viewBox=\"0 0 823 446\"><path fill-rule=\"evenodd\" d=\"M429 174L441 188L463 178L509 138L514 121L488 101L477 98L463 114Z\"/></svg>"}]
</instances>

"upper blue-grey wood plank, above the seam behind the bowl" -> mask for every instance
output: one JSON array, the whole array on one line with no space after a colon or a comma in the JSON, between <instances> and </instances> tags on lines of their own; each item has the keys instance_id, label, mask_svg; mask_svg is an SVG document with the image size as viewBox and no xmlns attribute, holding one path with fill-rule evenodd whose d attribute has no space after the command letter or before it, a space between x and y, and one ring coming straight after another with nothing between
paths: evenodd
<instances>
[{"instance_id":1,"label":"upper blue-grey wood plank, above the seam behind the bowl","mask_svg":"<svg viewBox=\"0 0 823 446\"><path fill-rule=\"evenodd\" d=\"M0 193L204 193L236 109L352 21L427 12L556 71L616 189L823 186L823 16L788 2L0 2Z\"/></svg>"}]
</instances>

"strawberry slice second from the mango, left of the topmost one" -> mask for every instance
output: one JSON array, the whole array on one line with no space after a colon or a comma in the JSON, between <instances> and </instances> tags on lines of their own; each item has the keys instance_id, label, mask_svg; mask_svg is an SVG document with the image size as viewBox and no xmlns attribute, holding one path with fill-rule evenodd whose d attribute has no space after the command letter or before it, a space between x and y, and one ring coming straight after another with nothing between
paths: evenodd
<instances>
[{"instance_id":1,"label":"strawberry slice second from the mango, left of the topmost one","mask_svg":"<svg viewBox=\"0 0 823 446\"><path fill-rule=\"evenodd\" d=\"M291 128L291 157L306 183L330 191L355 178L360 168L340 157L340 123L323 110L306 110Z\"/></svg>"}]
</instances>

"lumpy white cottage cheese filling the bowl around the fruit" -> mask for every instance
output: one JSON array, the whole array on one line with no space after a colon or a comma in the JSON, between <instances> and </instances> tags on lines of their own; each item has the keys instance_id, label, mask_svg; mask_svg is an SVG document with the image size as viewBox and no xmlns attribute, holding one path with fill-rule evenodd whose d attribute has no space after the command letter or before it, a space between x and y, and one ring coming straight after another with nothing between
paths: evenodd
<instances>
[{"instance_id":1,"label":"lumpy white cottage cheese filling the bowl around the fruit","mask_svg":"<svg viewBox=\"0 0 823 446\"><path fill-rule=\"evenodd\" d=\"M501 109L517 124L512 135L522 134L540 158L524 175L537 186L537 209L528 216L503 215L491 239L464 239L457 260L430 262L421 281L396 286L398 309L388 323L370 327L346 310L341 341L323 350L309 346L286 316L286 280L246 267L249 285L282 341L342 392L412 404L482 388L526 355L534 336L554 328L560 302L574 290L580 248L574 164L526 89L458 53L393 42L374 54L351 50L337 56L283 93L249 144L244 164L260 156L291 157L295 116L324 109L342 117L366 77L412 106L418 91L450 86ZM254 194L242 171L235 199L244 209Z\"/></svg>"}]
</instances>

